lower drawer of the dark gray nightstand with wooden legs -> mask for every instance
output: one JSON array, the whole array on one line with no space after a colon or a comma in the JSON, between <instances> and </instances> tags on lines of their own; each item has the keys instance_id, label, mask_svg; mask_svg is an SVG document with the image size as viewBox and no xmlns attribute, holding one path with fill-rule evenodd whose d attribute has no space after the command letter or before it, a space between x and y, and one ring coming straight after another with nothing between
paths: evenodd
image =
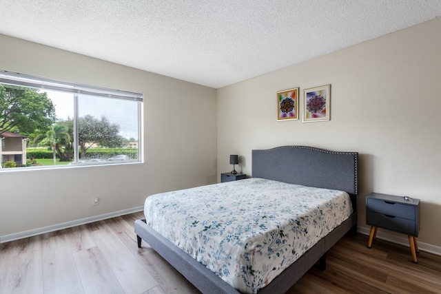
<instances>
[{"instance_id":1,"label":"lower drawer of the dark gray nightstand with wooden legs","mask_svg":"<svg viewBox=\"0 0 441 294\"><path fill-rule=\"evenodd\" d=\"M398 218L383 213L368 211L366 216L366 224L383 229L389 229L406 235L418 235L415 220L406 218Z\"/></svg>"}]
</instances>

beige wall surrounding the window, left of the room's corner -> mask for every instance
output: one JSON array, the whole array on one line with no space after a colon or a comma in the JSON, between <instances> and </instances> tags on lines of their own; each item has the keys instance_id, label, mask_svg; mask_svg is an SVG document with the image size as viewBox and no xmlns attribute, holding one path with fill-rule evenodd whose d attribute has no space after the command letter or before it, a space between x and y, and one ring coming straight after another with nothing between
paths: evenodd
<instances>
[{"instance_id":1,"label":"beige wall surrounding the window, left of the room's corner","mask_svg":"<svg viewBox=\"0 0 441 294\"><path fill-rule=\"evenodd\" d=\"M138 165L1 171L0 236L216 182L216 90L4 35L0 48L1 70L144 94L145 158ZM92 207L96 196L100 204Z\"/></svg>"}]
</instances>

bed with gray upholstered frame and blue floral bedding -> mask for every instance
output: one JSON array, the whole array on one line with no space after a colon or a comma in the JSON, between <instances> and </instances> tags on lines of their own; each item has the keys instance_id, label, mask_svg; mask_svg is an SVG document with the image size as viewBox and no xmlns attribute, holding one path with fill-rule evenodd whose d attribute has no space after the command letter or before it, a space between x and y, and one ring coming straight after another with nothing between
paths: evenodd
<instances>
[{"instance_id":1,"label":"bed with gray upholstered frame and blue floral bedding","mask_svg":"<svg viewBox=\"0 0 441 294\"><path fill-rule=\"evenodd\" d=\"M146 219L143 220L136 220L135 222L135 233L138 237L138 246L141 246L141 240L145 240L152 248L157 251L167 262L172 264L176 270L178 270L189 282L194 284L196 288L198 288L203 293L285 293L292 285L294 285L302 275L304 275L311 266L314 266L315 264L319 263L320 267L324 269L325 267L325 253L327 250L331 248L331 246L334 246L340 238L342 238L343 235L345 235L348 231L356 231L356 222L357 222L357 213L356 213L356 196L358 193L358 153L357 152L337 152L337 151L327 151L323 149L317 149L314 147L305 147L305 146L283 146L283 147L276 147L273 149L265 149L265 150L252 150L252 178L247 180L239 180L236 182L227 182L227 183L220 183L215 185L208 185L206 187L196 187L192 189L185 189L182 191L173 191L169 193L161 193L157 194L155 196L150 196L146 199L145 203L145 214ZM259 186L263 185L263 186ZM251 188L250 188L251 187ZM349 206L349 211L347 212L347 216L342 217L342 220L338 222L338 224L333 225L332 227L329 224L329 218L326 219L324 222L324 227L322 225L316 225L318 227L318 231L320 231L320 235L316 231L311 231L311 229L304 230L300 232L302 235L305 235L306 238L309 240L312 240L316 238L317 240L312 240L312 245L309 247L305 247L305 252L300 252L301 256L298 257L289 257L289 253L291 252L293 255L299 254L299 250L296 247L294 250L294 243L289 244L290 246L286 246L286 244L283 244L283 246L278 246L280 248L284 248L283 251L275 251L274 247L268 246L269 249L265 249L265 246L260 246L261 244L267 244L267 243L276 243L278 242L281 244L282 242L287 242L287 236L290 235L292 238L293 232L295 229L289 229L289 234L286 232L287 229L281 229L280 222L275 222L276 228L274 230L273 228L269 228L269 235L266 237L263 234L266 234L266 232L259 231L259 229L250 229L250 232L245 231L245 234L248 235L254 235L254 237L257 236L257 238L260 238L259 242L254 242L253 244L259 244L258 246L254 246L252 249L247 248L249 246L249 240L245 242L245 253L241 253L242 255L245 255L245 258L248 260L250 259L250 252L252 251L252 258L254 258L255 255L265 255L268 256L266 261L268 260L275 260L275 255L269 255L276 254L276 255L284 255L283 260L280 262L278 261L278 265L274 266L271 264L270 269L268 270L268 264L265 264L264 267L266 268L258 268L255 269L252 266L238 266L236 264L232 264L230 267L229 263L232 262L229 260L228 262L220 262L219 260L215 260L215 262L210 262L209 260L206 260L207 256L209 257L217 257L220 255L220 253L223 253L224 255L227 254L223 252L224 250L218 250L218 248L223 248L223 241L220 241L220 235L224 236L230 236L228 233L225 233L225 230L228 231L229 229L226 227L225 223L230 224L230 220L227 218L231 217L232 214L234 216L242 216L243 211L240 209L243 209L243 207L239 207L240 203L246 202L246 200L238 200L238 202L234 202L234 200L240 199L240 195L232 196L232 193L236 193L235 191L242 191L242 193L248 193L248 195L253 195L257 193L257 191L263 191L263 193L267 193L268 189L271 190L274 188L274 191L278 191L278 195L282 195L283 197L291 197L289 196L291 193L291 190L294 191L295 189L300 189L301 191L305 191L305 189L308 189L307 193L313 193L312 191L320 191L322 193L322 189L327 189L331 192L329 193L336 193L338 194L340 198L340 204L325 204L325 206L336 206L336 205L343 205L341 203L344 203L346 206ZM219 210L219 207L224 210L224 215L221 217L214 216L214 218L218 218L218 220L221 220L221 224L213 225L213 221L207 222L206 220L203 220L200 218L201 211L196 212L187 212L186 207L184 207L184 204L179 204L179 202L174 202L174 204L163 204L161 202L158 202L159 199L166 199L170 198L172 200L178 200L179 198L183 199L181 196L181 193L187 195L188 198L184 202L189 202L190 206L195 206L191 204L191 200L193 197L193 194L196 193L203 193L205 189L210 189L209 193L212 196L212 200L207 201L209 202L208 207L217 207L216 210ZM251 189L251 190L249 190ZM253 190L254 189L254 190ZM287 192L289 191L289 193ZM315 193L315 192L314 192ZM311 195L314 195L311 194ZM227 194L227 195L225 195ZM240 193L238 193L240 194ZM224 195L224 197L220 196ZM265 194L266 195L266 194ZM177 198L176 198L177 197ZM246 197L246 196L245 196ZM320 196L321 197L321 196ZM347 198L345 198L347 197ZM230 202L229 204L232 204L232 206L227 207L227 203L220 203L218 204L219 198L226 198L228 199L227 202ZM315 196L310 197L315 198ZM251 196L249 197L250 202L249 204L245 204L245 207L253 207L252 204L258 203L255 202L254 198ZM344 199L344 200L341 200ZM148 202L147 202L148 200ZM283 200L284 202L289 199ZM277 200L280 201L280 200ZM297 200L296 200L297 201ZM334 200L332 200L334 201ZM342 202L341 202L342 201ZM153 204L152 204L153 203ZM217 206L216 206L217 205ZM266 211L265 209L269 209L269 207L275 207L277 205L268 205L265 207L265 205L261 204L254 204L258 205L258 208L256 206L252 209L252 215L254 218L256 216L263 216L265 215L265 218L267 215L272 216L272 212ZM298 205L300 206L308 206L306 205ZM173 206L174 209L181 209L185 211L185 214L180 216L182 219L186 218L189 220L193 220L194 225L187 225L187 227L196 227L192 228L193 230L196 230L195 235L201 235L201 238L203 239L203 243L201 241L194 241L195 237L194 235L191 235L191 232L188 231L189 235L186 236L186 239L181 240L179 238L174 238L175 235L186 235L187 233L182 233L183 229L188 228L178 228L176 229L176 224L172 224L172 227L170 229L167 229L167 231L163 231L162 233L158 233L156 229L158 226L162 226L166 222L172 222L171 219L164 218L161 219L163 216L167 216L169 214L170 216L176 216L177 222L181 223L181 218L178 217L176 214L176 211L168 211L165 210L165 207L171 207ZM196 205L197 206L197 205ZM288 208L294 207L296 204L289 204L285 205L283 211L289 210ZM316 207L316 204L311 204L311 207ZM153 207L160 207L161 210L155 211L151 210ZM239 209L239 211L234 211L234 209ZM263 207L263 211L258 211L260 207ZM199 208L198 208L199 209ZM322 213L324 209L313 209L316 212L316 217L312 216L303 216L305 219L311 218L313 221L309 222L316 222L316 218L324 218L323 216L326 216L325 213ZM319 212L317 212L319 211ZM314 213L314 212L313 212ZM244 212L245 214L245 212ZM212 215L212 212L209 211L209 215ZM194 219L192 219L194 218ZM334 217L333 217L334 218ZM156 221L157 220L157 221ZM164 221L167 220L167 221ZM239 218L238 222L241 222L242 220ZM294 220L289 218L286 218L286 220L283 220L283 222L286 222L287 224L295 226L296 222L298 220ZM244 222L245 223L245 222ZM251 222L250 222L251 223ZM274 225L274 223L272 223ZM256 222L256 225L257 222ZM265 225L260 224L260 226L267 226L267 223ZM269 224L268 224L269 226ZM322 227L320 227L322 226ZM183 226L185 227L185 226ZM197 229L200 228L200 229ZM220 231L216 231L214 227L218 227ZM237 225L236 225L237 227ZM250 226L252 227L252 226ZM155 228L155 229L154 229ZM207 229L208 228L208 229ZM174 231L176 229L177 231ZM181 231L180 231L181 230ZM198 231L199 230L199 231ZM209 238L207 238L207 231L209 231ZM282 233L280 234L280 231ZM311 232L308 232L311 231ZM187 231L186 231L187 232ZM274 233L276 232L276 233ZM285 232L285 233L283 233ZM194 232L193 232L194 233ZM242 232L244 233L244 232ZM272 234L272 235L271 235ZM268 236L274 236L274 242L268 242L269 240ZM166 238L166 237L167 238ZM281 237L280 237L281 236ZM276 239L276 238L282 238L282 239ZM211 240L211 238L214 238L214 241ZM228 237L231 238L231 237ZM294 235L294 239L296 239L296 235ZM243 238L238 238L240 240L243 240ZM176 240L179 240L176 243ZM183 246L183 243L189 242L192 243L192 248L186 248ZM199 243L198 243L199 242ZM209 243L212 242L212 243ZM213 243L214 242L214 243ZM289 241L291 242L291 241ZM289 243L287 242L287 243ZM199 245L202 244L202 245ZM181 249L181 248L183 249ZM244 247L244 244L240 244L238 247ZM227 248L227 247L225 247ZM258 250L256 251L256 248ZM303 248L303 247L302 247ZM260 250L261 249L261 250ZM184 251L185 250L185 251ZM226 250L226 249L225 249ZM232 249L234 252L236 252L236 249ZM255 253L258 254L255 254ZM279 254L280 253L280 254ZM285 256L286 253L286 256ZM228 253L229 254L229 253ZM234 256L234 255L229 255ZM231 259L231 258L230 258ZM236 259L236 258L233 258ZM291 259L291 260L290 260ZM201 262L199 262L200 260ZM203 264L203 263L204 264ZM254 262L254 260L253 260ZM277 262L277 261L276 261ZM220 268L223 269L223 271L218 271L213 269L213 266L220 266ZM210 270L209 268L212 268ZM238 279L238 282L232 282L229 279L229 277L225 276L237 276L237 273L234 273L234 269L239 268L239 271L241 272L240 278ZM276 269L277 268L277 269ZM216 272L216 273L215 273ZM259 283L254 283L252 285L248 285L249 282L247 282L246 278L244 276L252 275L253 278L257 276L256 273L268 273L270 272L271 275L273 273L276 273L276 276L271 276L267 279L267 276L265 275L265 280L262 282L262 279L260 279ZM240 281L242 280L242 282ZM248 284L247 284L248 283ZM244 287L245 284L245 288ZM233 286L232 286L233 285ZM239 285L239 286L238 286ZM249 286L249 288L246 288Z\"/></svg>"}]
</instances>

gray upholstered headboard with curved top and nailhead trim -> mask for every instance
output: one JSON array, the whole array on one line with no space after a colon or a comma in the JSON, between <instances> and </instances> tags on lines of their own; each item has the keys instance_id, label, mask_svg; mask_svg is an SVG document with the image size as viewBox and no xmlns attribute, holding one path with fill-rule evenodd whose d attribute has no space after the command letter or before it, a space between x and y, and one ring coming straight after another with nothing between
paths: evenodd
<instances>
[{"instance_id":1,"label":"gray upholstered headboard with curved top and nailhead trim","mask_svg":"<svg viewBox=\"0 0 441 294\"><path fill-rule=\"evenodd\" d=\"M253 178L358 193L358 152L306 146L252 150Z\"/></svg>"}]
</instances>

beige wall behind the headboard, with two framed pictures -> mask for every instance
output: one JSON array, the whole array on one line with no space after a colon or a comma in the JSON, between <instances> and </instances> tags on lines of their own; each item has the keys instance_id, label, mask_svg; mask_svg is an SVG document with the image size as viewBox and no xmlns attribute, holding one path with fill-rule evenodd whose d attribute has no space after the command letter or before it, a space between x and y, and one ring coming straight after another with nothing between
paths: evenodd
<instances>
[{"instance_id":1,"label":"beige wall behind the headboard, with two framed pictures","mask_svg":"<svg viewBox=\"0 0 441 294\"><path fill-rule=\"evenodd\" d=\"M366 227L371 191L420 198L418 240L440 249L440 32L438 18L219 89L218 174L232 169L229 154L239 154L236 170L250 175L252 149L358 151L358 225ZM330 121L276 121L276 92L327 84Z\"/></svg>"}]
</instances>

